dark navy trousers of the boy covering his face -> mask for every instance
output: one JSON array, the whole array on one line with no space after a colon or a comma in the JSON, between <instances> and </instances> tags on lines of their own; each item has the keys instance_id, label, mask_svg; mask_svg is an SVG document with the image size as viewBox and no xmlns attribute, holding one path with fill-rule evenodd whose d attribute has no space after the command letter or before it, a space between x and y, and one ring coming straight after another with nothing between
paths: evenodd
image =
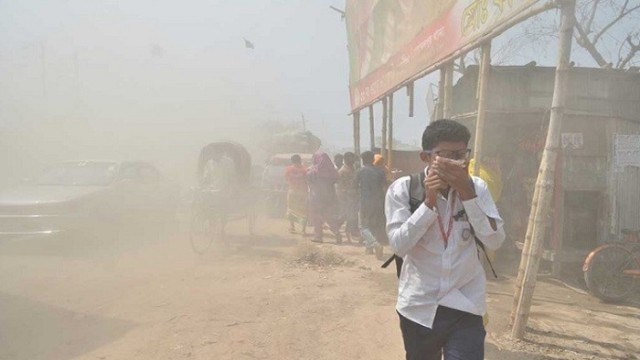
<instances>
[{"instance_id":1,"label":"dark navy trousers of the boy covering his face","mask_svg":"<svg viewBox=\"0 0 640 360\"><path fill-rule=\"evenodd\" d=\"M433 328L400 316L407 360L482 360L486 331L482 317L439 306Z\"/></svg>"}]
</instances>

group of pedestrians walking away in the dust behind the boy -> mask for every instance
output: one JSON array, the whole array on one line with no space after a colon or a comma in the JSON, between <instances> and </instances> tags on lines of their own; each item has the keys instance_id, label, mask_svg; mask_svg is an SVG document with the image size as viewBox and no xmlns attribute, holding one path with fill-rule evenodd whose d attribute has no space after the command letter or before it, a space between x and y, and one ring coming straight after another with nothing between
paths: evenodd
<instances>
[{"instance_id":1,"label":"group of pedestrians walking away in the dust behind the boy","mask_svg":"<svg viewBox=\"0 0 640 360\"><path fill-rule=\"evenodd\" d=\"M366 253L382 258L388 243L384 197L391 178L384 159L376 156L370 151L360 157L347 152L336 154L332 161L327 153L318 151L306 168L301 157L293 155L285 171L289 231L295 233L298 224L306 235L310 223L312 241L321 243L326 226L341 244L344 225L347 242L364 243Z\"/></svg>"}]
</instances>

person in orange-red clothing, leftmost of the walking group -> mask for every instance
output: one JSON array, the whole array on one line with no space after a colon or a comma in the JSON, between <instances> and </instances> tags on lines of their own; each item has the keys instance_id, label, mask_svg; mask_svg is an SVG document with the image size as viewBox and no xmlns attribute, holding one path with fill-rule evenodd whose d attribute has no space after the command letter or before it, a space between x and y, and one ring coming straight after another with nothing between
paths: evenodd
<instances>
[{"instance_id":1,"label":"person in orange-red clothing, leftmost of the walking group","mask_svg":"<svg viewBox=\"0 0 640 360\"><path fill-rule=\"evenodd\" d=\"M284 177L289 185L287 192L289 232L295 233L295 224L298 223L302 226L302 235L306 235L309 187L307 169L302 165L300 155L291 157L291 165L285 170Z\"/></svg>"}]
</instances>

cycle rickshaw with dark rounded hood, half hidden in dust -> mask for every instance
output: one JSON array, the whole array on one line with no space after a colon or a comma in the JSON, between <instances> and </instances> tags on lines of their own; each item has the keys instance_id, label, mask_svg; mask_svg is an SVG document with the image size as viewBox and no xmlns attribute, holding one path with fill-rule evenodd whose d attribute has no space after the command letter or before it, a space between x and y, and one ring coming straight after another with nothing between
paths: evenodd
<instances>
[{"instance_id":1,"label":"cycle rickshaw with dark rounded hood, half hidden in dust","mask_svg":"<svg viewBox=\"0 0 640 360\"><path fill-rule=\"evenodd\" d=\"M230 186L224 190L211 188L202 179L207 164L216 156L233 161ZM228 160L227 160L228 161ZM190 241L196 253L204 253L214 241L228 246L225 226L228 222L248 220L249 233L254 234L256 222L256 194L251 184L251 156L240 144L214 142L200 151L196 188L191 208Z\"/></svg>"}]
</instances>

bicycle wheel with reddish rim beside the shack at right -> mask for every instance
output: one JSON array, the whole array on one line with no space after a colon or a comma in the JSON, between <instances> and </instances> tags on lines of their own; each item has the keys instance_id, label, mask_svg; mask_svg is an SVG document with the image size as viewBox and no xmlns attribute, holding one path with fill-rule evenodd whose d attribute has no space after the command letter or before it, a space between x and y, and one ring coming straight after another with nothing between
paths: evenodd
<instances>
[{"instance_id":1,"label":"bicycle wheel with reddish rim beside the shack at right","mask_svg":"<svg viewBox=\"0 0 640 360\"><path fill-rule=\"evenodd\" d=\"M584 273L589 291L604 301L620 301L635 286L635 277L625 271L637 268L633 254L622 246L609 246L598 250Z\"/></svg>"}]
</instances>

